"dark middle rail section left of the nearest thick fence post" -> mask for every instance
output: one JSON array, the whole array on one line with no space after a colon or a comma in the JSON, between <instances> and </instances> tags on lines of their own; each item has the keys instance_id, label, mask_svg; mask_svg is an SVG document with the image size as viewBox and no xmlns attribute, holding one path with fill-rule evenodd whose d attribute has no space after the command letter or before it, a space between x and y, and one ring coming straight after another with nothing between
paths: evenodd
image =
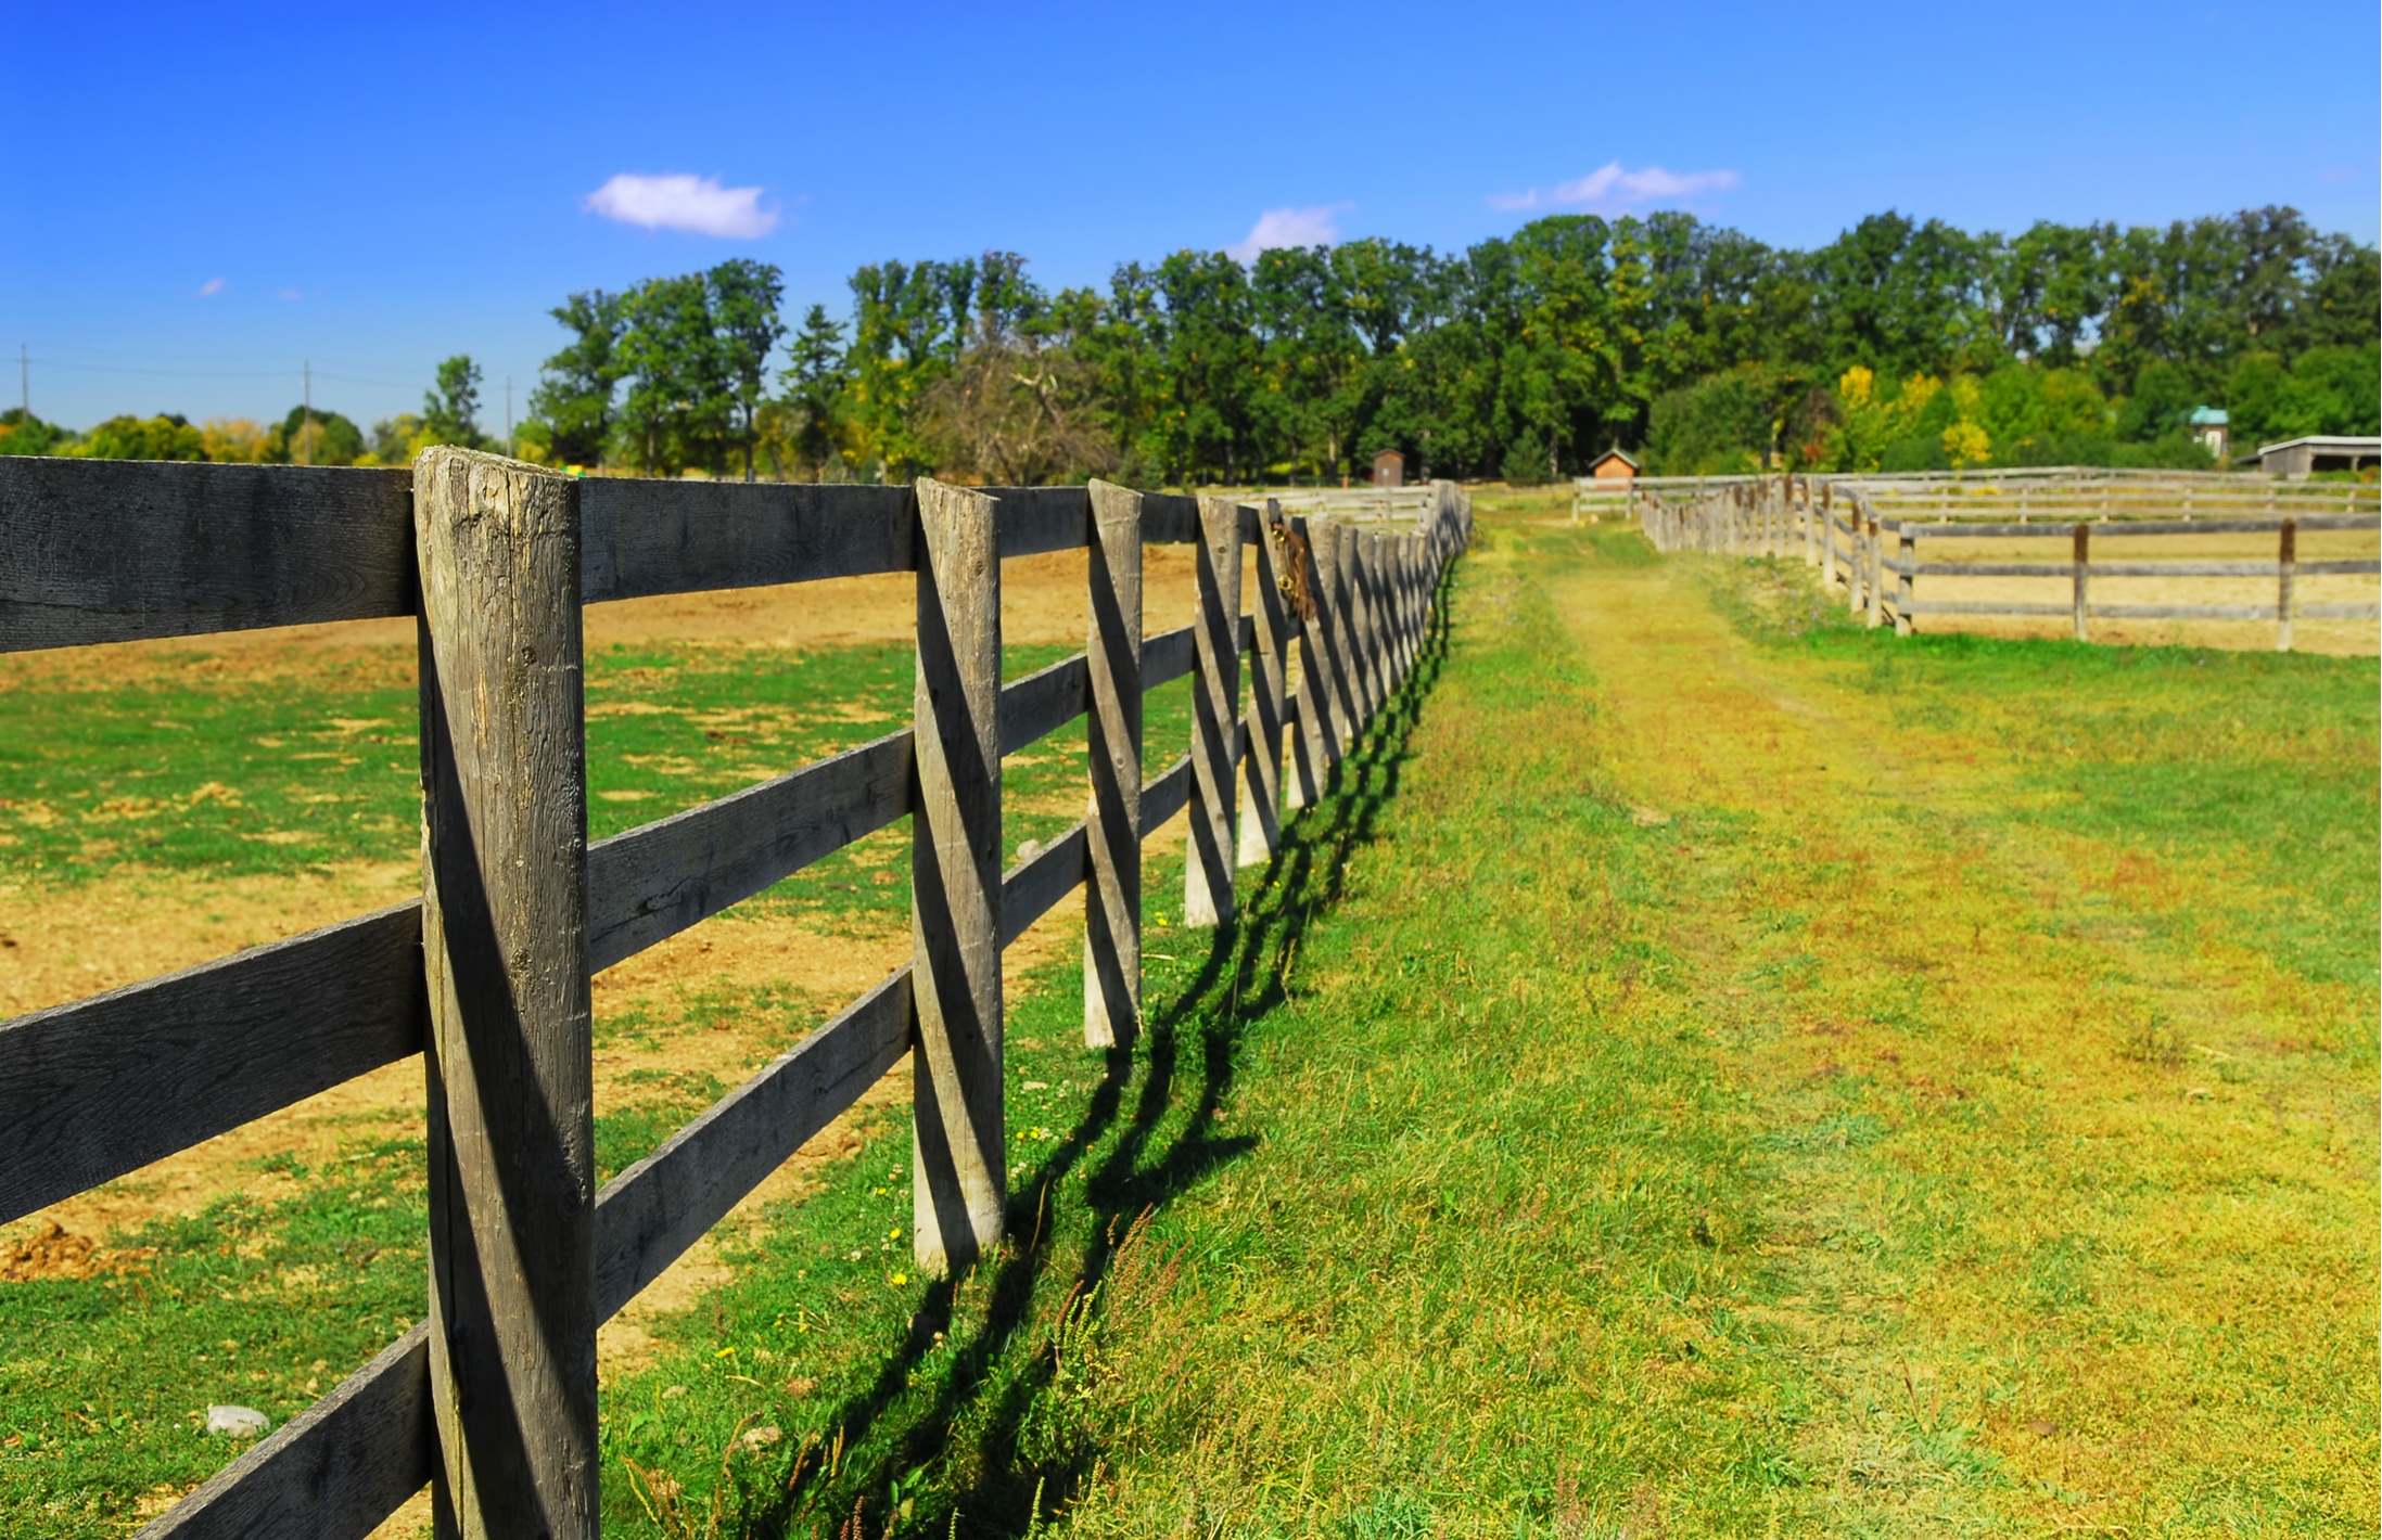
<instances>
[{"instance_id":1,"label":"dark middle rail section left of the nearest thick fence post","mask_svg":"<svg viewBox=\"0 0 2382 1540\"><path fill-rule=\"evenodd\" d=\"M422 1052L422 904L0 1023L0 1221Z\"/></svg>"}]
</instances>

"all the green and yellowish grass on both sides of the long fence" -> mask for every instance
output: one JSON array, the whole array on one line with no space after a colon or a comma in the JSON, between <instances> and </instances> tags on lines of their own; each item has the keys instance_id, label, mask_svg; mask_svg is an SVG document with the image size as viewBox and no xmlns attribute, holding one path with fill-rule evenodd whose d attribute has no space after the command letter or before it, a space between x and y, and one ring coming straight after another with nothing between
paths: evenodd
<instances>
[{"instance_id":1,"label":"all the green and yellowish grass on both sides of the long fence","mask_svg":"<svg viewBox=\"0 0 2382 1540\"><path fill-rule=\"evenodd\" d=\"M1024 981L1012 1245L912 1276L905 1114L858 1119L607 1373L607 1526L2372 1533L2375 662L1837 614L1796 564L1484 505L1443 647L1241 924L1153 928L1136 1052L1074 1047L1065 943ZM903 709L900 657L805 657L593 669L598 795L648 793L598 819L884 731L784 724L822 700ZM298 814L236 762L326 731L329 690L274 716L291 690L188 762L126 752L179 778L14 759L0 795L172 795L124 824L231 852L193 871L298 862L243 838ZM7 700L12 745L186 714ZM1036 771L1058 826L1079 771ZM403 857L388 781L341 812ZM148 838L48 828L43 893ZM760 904L879 935L891 854ZM1153 862L1155 914L1179 881ZM767 1019L762 1052L834 1004L800 985L698 974L600 1052L712 1016ZM653 1064L600 1104L607 1166L741 1073ZM145 1271L0 1285L0 1526L119 1533L224 1459L193 1407L279 1421L419 1309L419 1145L324 1147L107 1242Z\"/></svg>"}]
</instances>

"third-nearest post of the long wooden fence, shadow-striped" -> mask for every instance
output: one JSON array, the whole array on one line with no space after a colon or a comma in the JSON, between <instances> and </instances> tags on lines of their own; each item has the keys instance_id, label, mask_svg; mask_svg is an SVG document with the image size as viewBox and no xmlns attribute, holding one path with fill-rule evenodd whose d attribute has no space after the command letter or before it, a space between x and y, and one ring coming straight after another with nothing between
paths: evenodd
<instances>
[{"instance_id":1,"label":"third-nearest post of the long wooden fence, shadow-striped","mask_svg":"<svg viewBox=\"0 0 2382 1540\"><path fill-rule=\"evenodd\" d=\"M1091 483L1091 769L1084 1047L1141 1026L1141 493Z\"/></svg>"}]
</instances>

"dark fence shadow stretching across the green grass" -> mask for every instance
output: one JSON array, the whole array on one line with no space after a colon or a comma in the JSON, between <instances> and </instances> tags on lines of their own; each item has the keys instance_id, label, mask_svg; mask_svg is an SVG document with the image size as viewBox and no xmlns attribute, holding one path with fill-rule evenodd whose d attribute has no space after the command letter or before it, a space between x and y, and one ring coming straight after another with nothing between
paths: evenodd
<instances>
[{"instance_id":1,"label":"dark fence shadow stretching across the green grass","mask_svg":"<svg viewBox=\"0 0 2382 1540\"><path fill-rule=\"evenodd\" d=\"M846 1492L884 1492L896 1476L929 1466L948 1454L946 1440L965 1416L981 1433L977 1459L962 1461L981 1476L972 1488L950 1492L948 1507L917 1514L908 1526L943 1530L958 1511L955 1530L965 1535L1022 1535L1048 1519L1091 1478L1098 1450L1077 1452L1062 1461L1031 1464L1019 1454L1019 1435L1036 1392L1050 1378L1043 1357L1022 1376L1000 1376L1003 1357L1017 1335L1031 1328L1034 1304L1046 1290L1089 1295L1117 1262L1131 1223L1153 1209L1165 1209L1210 1171L1239 1159L1255 1138L1220 1135L1215 1112L1231 1090L1234 1059L1251 1023L1289 1000L1289 966L1308 921L1332 909L1346 885L1351 852L1374 838L1384 809L1398 795L1403 766L1413 752L1413 733L1424 702L1446 662L1451 616L1448 600L1455 566L1441 578L1429 626L1415 652L1415 664L1398 690L1367 726L1365 738L1334 771L1332 785L1315 807L1284 821L1282 847L1265 866L1248 904L1217 926L1198 974L1158 1004L1143 1021L1139 1045L1115 1047L1105 1076L1081 1121L1010 1188L1010 1242L989 1259L984 1328L958 1352L943 1373L941 1392L924 1407L903 1409L903 1426L884 1426L896 1402L910 1390L919 1361L934 1352L941 1333L953 1326L958 1285L936 1283L910 1333L867 1390L853 1395L829 1426L843 1431L843 1447L891 1435L872 1469L850 1464L834 1478ZM1136 1050L1146 1071L1134 1076ZM1170 1107L1189 1104L1191 1114L1177 1131L1165 1131ZM1100 1140L1122 1133L1115 1145ZM1091 1240L1081 1264L1053 1254L1048 1235L1050 1192L1084 1171ZM746 1516L748 1535L786 1535L817 1523L817 1500L824 1490L817 1473L798 1476L793 1485ZM841 1516L827 1516L836 1523ZM867 1514L860 1514L867 1519ZM874 1519L893 1533L888 1516Z\"/></svg>"}]
</instances>

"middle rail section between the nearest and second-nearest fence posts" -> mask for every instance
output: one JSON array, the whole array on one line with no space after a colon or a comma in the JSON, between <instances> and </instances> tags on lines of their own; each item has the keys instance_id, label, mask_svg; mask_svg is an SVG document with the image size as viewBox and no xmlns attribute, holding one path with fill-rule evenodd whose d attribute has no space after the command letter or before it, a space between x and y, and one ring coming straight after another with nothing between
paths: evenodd
<instances>
[{"instance_id":1,"label":"middle rail section between the nearest and second-nearest fence posts","mask_svg":"<svg viewBox=\"0 0 2382 1540\"><path fill-rule=\"evenodd\" d=\"M588 959L636 957L908 812L903 728L617 833L588 850Z\"/></svg>"}]
</instances>

